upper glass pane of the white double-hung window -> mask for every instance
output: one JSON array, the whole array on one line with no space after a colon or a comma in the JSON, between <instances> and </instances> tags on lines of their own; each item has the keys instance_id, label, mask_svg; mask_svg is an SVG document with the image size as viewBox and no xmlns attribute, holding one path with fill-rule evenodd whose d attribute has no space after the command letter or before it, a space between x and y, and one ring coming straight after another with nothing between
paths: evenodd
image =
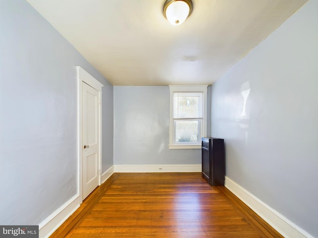
<instances>
[{"instance_id":1,"label":"upper glass pane of the white double-hung window","mask_svg":"<svg viewBox=\"0 0 318 238\"><path fill-rule=\"evenodd\" d=\"M202 93L174 93L173 118L202 118Z\"/></svg>"}]
</instances>

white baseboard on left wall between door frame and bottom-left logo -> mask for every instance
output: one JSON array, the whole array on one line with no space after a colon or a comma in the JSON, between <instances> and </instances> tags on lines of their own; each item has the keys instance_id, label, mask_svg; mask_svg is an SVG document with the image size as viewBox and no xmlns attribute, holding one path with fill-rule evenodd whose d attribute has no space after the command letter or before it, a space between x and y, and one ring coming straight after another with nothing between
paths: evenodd
<instances>
[{"instance_id":1,"label":"white baseboard on left wall between door frame and bottom-left logo","mask_svg":"<svg viewBox=\"0 0 318 238\"><path fill-rule=\"evenodd\" d=\"M39 237L48 238L66 221L78 208L81 203L79 194L76 194L60 208L54 211L39 224Z\"/></svg>"}]
</instances>

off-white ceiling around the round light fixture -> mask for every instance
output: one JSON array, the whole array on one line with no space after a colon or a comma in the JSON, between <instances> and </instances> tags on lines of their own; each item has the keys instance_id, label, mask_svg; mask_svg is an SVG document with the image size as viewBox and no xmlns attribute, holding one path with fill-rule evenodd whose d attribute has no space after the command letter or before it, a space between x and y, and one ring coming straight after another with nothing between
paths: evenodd
<instances>
[{"instance_id":1,"label":"off-white ceiling around the round light fixture","mask_svg":"<svg viewBox=\"0 0 318 238\"><path fill-rule=\"evenodd\" d=\"M307 0L28 0L113 85L212 84Z\"/></svg>"}]
</instances>

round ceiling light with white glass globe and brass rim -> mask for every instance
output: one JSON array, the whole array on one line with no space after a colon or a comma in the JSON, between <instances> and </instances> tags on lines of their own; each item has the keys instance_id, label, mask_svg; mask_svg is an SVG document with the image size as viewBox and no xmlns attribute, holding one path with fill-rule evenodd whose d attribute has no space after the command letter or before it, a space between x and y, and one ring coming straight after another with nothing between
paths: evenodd
<instances>
[{"instance_id":1,"label":"round ceiling light with white glass globe and brass rim","mask_svg":"<svg viewBox=\"0 0 318 238\"><path fill-rule=\"evenodd\" d=\"M166 0L163 15L172 25L180 25L192 12L191 0Z\"/></svg>"}]
</instances>

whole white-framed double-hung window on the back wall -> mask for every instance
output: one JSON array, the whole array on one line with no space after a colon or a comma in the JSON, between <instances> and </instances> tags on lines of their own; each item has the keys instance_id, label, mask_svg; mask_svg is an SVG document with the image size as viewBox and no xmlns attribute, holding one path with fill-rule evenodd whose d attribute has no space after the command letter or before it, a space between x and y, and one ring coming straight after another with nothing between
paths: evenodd
<instances>
[{"instance_id":1,"label":"whole white-framed double-hung window on the back wall","mask_svg":"<svg viewBox=\"0 0 318 238\"><path fill-rule=\"evenodd\" d=\"M201 137L206 136L207 85L169 88L169 149L201 149Z\"/></svg>"}]
</instances>

